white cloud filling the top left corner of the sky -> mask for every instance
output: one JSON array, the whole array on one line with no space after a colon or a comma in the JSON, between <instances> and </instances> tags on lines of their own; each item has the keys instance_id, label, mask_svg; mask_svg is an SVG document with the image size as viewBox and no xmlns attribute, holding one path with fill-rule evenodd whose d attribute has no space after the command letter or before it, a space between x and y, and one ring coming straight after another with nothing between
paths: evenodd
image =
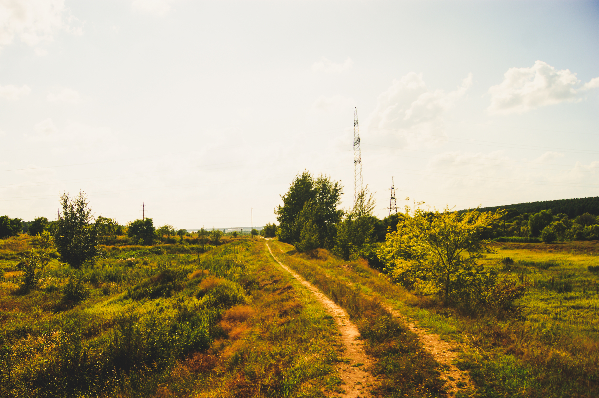
<instances>
[{"instance_id":1,"label":"white cloud filling the top left corner of the sky","mask_svg":"<svg viewBox=\"0 0 599 398\"><path fill-rule=\"evenodd\" d=\"M35 46L52 41L56 31L80 35L81 25L64 0L0 0L0 47L16 37ZM37 48L36 53L44 54L44 50Z\"/></svg>"}]
</instances>

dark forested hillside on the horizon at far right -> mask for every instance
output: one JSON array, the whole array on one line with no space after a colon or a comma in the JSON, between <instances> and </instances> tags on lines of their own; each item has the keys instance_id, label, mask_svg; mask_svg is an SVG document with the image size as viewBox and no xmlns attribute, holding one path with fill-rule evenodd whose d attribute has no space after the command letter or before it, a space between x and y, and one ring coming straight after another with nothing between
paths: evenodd
<instances>
[{"instance_id":1,"label":"dark forested hillside on the horizon at far right","mask_svg":"<svg viewBox=\"0 0 599 398\"><path fill-rule=\"evenodd\" d=\"M518 203L516 205L483 207L479 211L495 211L497 209L516 209L520 214L538 213L551 210L553 214L567 214L574 218L585 213L599 214L599 196L594 198L544 200L543 202Z\"/></svg>"}]
</instances>

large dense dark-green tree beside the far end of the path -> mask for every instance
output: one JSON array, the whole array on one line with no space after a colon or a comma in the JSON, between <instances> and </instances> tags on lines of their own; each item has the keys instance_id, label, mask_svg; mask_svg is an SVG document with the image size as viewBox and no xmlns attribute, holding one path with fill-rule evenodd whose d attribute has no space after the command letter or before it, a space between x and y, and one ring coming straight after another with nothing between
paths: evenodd
<instances>
[{"instance_id":1,"label":"large dense dark-green tree beside the far end of the path","mask_svg":"<svg viewBox=\"0 0 599 398\"><path fill-rule=\"evenodd\" d=\"M314 178L307 171L298 174L289 191L281 196L283 205L274 211L279 221L279 239L301 251L308 247L332 247L335 224L343 216L343 210L337 209L341 195L343 186L339 181L322 174Z\"/></svg>"}]
</instances>

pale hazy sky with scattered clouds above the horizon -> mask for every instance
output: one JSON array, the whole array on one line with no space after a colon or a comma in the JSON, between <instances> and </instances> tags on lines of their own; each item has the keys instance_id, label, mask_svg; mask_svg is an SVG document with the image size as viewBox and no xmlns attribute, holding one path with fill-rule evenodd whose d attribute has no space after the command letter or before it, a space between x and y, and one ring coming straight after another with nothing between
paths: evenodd
<instances>
[{"instance_id":1,"label":"pale hazy sky with scattered clouds above the horizon","mask_svg":"<svg viewBox=\"0 0 599 398\"><path fill-rule=\"evenodd\" d=\"M599 2L0 0L0 215L262 226L304 170L349 209L355 107L381 218L392 178L400 209L599 196Z\"/></svg>"}]
</instances>

